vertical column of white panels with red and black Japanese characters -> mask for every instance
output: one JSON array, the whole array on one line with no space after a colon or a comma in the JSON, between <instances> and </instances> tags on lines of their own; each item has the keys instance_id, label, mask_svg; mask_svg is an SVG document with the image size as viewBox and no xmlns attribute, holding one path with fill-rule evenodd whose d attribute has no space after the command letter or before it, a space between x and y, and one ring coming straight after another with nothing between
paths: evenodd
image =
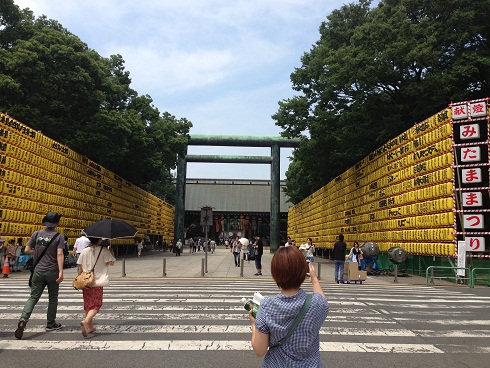
<instances>
[{"instance_id":1,"label":"vertical column of white panels with red and black Japanese characters","mask_svg":"<svg viewBox=\"0 0 490 368\"><path fill-rule=\"evenodd\" d=\"M489 115L488 99L451 104L455 150L458 244L466 252L489 257ZM484 254L487 253L487 254ZM458 252L459 254L459 252Z\"/></svg>"}]
</instances>

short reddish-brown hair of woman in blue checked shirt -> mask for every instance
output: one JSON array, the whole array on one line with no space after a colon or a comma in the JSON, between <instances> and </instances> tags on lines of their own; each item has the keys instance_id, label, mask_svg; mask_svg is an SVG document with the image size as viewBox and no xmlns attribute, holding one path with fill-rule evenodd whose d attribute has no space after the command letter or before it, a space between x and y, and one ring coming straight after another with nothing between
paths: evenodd
<instances>
[{"instance_id":1,"label":"short reddish-brown hair of woman in blue checked shirt","mask_svg":"<svg viewBox=\"0 0 490 368\"><path fill-rule=\"evenodd\" d=\"M305 256L296 247L279 247L271 261L272 278L283 290L297 289L306 278Z\"/></svg>"}]
</instances>

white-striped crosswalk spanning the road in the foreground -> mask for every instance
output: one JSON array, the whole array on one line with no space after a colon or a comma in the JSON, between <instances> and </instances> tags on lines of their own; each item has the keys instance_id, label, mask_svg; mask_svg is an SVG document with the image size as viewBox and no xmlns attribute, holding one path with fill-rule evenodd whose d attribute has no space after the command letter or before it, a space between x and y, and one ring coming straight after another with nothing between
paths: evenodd
<instances>
[{"instance_id":1,"label":"white-striped crosswalk spanning the road in the foreground","mask_svg":"<svg viewBox=\"0 0 490 368\"><path fill-rule=\"evenodd\" d=\"M45 290L24 338L16 340L13 331L30 292L21 281L0 284L0 334L7 338L0 341L2 350L249 351L250 321L240 298L279 292L272 281L113 281L104 288L97 332L84 340L78 325L84 318L82 293L64 283L57 320L67 326L45 332ZM305 290L311 292L311 285ZM320 329L322 352L490 352L490 318L478 313L490 297L425 286L333 284L324 290L330 311ZM436 338L446 340L431 344Z\"/></svg>"}]
</instances>

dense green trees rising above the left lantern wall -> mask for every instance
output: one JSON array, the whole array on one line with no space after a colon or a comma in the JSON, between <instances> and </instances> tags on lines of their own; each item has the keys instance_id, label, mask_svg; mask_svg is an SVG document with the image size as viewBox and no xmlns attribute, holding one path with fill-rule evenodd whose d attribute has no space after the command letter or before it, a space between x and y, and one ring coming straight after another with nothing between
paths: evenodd
<instances>
[{"instance_id":1,"label":"dense green trees rising above the left lantern wall","mask_svg":"<svg viewBox=\"0 0 490 368\"><path fill-rule=\"evenodd\" d=\"M121 55L103 58L57 21L0 4L0 111L173 201L170 170L192 124L130 84Z\"/></svg>"}]
</instances>

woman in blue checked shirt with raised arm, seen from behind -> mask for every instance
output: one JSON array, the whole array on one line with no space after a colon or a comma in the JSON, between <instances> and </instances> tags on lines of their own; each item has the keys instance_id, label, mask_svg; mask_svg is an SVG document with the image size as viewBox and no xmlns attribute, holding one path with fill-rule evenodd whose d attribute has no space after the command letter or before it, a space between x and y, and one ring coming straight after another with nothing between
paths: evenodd
<instances>
[{"instance_id":1,"label":"woman in blue checked shirt with raised arm, seen from behind","mask_svg":"<svg viewBox=\"0 0 490 368\"><path fill-rule=\"evenodd\" d=\"M249 312L252 347L257 356L265 355L262 367L322 367L319 331L327 317L328 302L313 264L308 265L313 286L311 305L289 339L274 346L288 334L307 295L301 289L306 279L305 257L298 248L280 247L272 257L271 274L281 293L261 301L256 319Z\"/></svg>"}]
</instances>

